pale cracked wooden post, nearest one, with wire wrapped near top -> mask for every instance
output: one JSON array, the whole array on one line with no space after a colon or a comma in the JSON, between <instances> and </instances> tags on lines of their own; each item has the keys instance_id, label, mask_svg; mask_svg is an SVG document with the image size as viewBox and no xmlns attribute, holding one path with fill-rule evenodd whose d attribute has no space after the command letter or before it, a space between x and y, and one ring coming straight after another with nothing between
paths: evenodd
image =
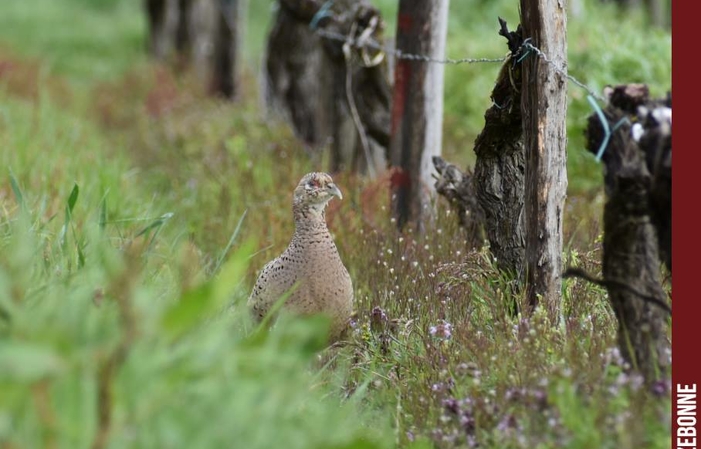
<instances>
[{"instance_id":1,"label":"pale cracked wooden post, nearest one, with wire wrapped near top","mask_svg":"<svg viewBox=\"0 0 701 449\"><path fill-rule=\"evenodd\" d=\"M531 308L539 303L547 307L551 320L556 322L562 286L562 212L567 192L565 4L559 0L521 0L521 26L524 39L530 38L542 52L532 54L522 67L527 298Z\"/></svg>"}]
</instances>

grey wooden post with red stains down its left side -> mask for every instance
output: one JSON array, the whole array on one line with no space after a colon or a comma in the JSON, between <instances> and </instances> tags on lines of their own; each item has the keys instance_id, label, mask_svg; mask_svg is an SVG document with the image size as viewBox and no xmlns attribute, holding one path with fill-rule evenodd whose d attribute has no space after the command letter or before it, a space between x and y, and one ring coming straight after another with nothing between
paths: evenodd
<instances>
[{"instance_id":1,"label":"grey wooden post with red stains down its left side","mask_svg":"<svg viewBox=\"0 0 701 449\"><path fill-rule=\"evenodd\" d=\"M400 0L396 48L442 59L448 29L448 0ZM443 65L399 56L394 72L390 138L392 211L397 225L418 230L431 216L432 158L441 153Z\"/></svg>"}]
</instances>

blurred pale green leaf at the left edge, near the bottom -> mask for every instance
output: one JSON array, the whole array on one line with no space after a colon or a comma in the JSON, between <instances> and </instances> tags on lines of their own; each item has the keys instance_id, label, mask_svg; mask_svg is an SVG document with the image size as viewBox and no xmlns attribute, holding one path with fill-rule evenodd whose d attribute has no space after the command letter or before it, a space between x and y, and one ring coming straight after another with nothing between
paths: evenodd
<instances>
[{"instance_id":1,"label":"blurred pale green leaf at the left edge, near the bottom","mask_svg":"<svg viewBox=\"0 0 701 449\"><path fill-rule=\"evenodd\" d=\"M34 382L58 373L60 357L50 348L32 343L0 342L0 379Z\"/></svg>"}]
</instances>

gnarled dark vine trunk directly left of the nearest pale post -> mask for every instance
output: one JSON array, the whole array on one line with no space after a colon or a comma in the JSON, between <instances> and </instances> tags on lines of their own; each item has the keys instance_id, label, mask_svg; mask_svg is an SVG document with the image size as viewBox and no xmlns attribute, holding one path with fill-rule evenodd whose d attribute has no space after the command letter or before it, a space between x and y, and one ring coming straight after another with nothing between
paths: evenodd
<instances>
[{"instance_id":1,"label":"gnarled dark vine trunk directly left of the nearest pale post","mask_svg":"<svg viewBox=\"0 0 701 449\"><path fill-rule=\"evenodd\" d=\"M463 172L440 157L433 158L439 177L436 191L457 211L467 230L468 246L480 245L486 234L499 269L515 279L524 272L525 153L521 123L521 27L509 31L499 18L499 34L511 51L492 90L492 106L475 140L474 174Z\"/></svg>"}]
</instances>

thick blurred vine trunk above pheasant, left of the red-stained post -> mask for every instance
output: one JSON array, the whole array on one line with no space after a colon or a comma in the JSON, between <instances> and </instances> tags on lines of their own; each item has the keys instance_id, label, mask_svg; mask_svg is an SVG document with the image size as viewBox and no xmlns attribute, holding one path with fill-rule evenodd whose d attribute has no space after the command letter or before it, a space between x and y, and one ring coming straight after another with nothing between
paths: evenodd
<instances>
[{"instance_id":1,"label":"thick blurred vine trunk above pheasant, left of the red-stained post","mask_svg":"<svg viewBox=\"0 0 701 449\"><path fill-rule=\"evenodd\" d=\"M391 90L380 11L368 0L278 3L265 66L271 110L310 148L330 143L330 171L384 171Z\"/></svg>"}]
</instances>

